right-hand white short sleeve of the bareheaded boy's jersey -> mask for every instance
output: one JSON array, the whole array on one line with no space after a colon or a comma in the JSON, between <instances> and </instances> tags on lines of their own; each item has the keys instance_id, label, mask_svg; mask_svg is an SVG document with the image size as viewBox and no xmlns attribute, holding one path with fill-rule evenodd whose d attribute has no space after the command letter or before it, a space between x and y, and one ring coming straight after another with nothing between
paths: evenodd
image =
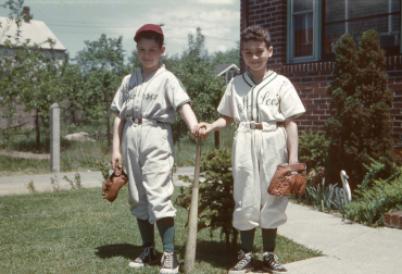
<instances>
[{"instance_id":1,"label":"right-hand white short sleeve of the bareheaded boy's jersey","mask_svg":"<svg viewBox=\"0 0 402 274\"><path fill-rule=\"evenodd\" d=\"M285 117L298 117L305 112L298 92L289 79L286 79L279 91L279 108Z\"/></svg>"}]
</instances>

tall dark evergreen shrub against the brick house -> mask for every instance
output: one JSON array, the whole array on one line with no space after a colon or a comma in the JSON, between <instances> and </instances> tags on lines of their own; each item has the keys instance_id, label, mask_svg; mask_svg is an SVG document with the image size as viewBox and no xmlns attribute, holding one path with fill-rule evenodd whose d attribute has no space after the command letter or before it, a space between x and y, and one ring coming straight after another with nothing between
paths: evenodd
<instances>
[{"instance_id":1,"label":"tall dark evergreen shrub against the brick house","mask_svg":"<svg viewBox=\"0 0 402 274\"><path fill-rule=\"evenodd\" d=\"M331 139L326 177L334 180L346 170L352 185L362 183L370 158L392 170L392 137L389 108L392 92L387 90L384 52L375 30L363 34L359 51L350 35L336 47L334 80L327 86L332 97L331 117L326 133Z\"/></svg>"}]
</instances>

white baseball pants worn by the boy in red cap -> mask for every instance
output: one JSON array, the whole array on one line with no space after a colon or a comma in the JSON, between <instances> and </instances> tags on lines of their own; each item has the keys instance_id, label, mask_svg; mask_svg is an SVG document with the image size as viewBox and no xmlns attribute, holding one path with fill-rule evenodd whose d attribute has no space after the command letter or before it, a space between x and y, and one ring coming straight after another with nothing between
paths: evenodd
<instances>
[{"instance_id":1,"label":"white baseball pants worn by the boy in red cap","mask_svg":"<svg viewBox=\"0 0 402 274\"><path fill-rule=\"evenodd\" d=\"M151 224L175 216L171 126L151 119L142 119L139 125L127 119L122 144L131 214Z\"/></svg>"}]
</instances>

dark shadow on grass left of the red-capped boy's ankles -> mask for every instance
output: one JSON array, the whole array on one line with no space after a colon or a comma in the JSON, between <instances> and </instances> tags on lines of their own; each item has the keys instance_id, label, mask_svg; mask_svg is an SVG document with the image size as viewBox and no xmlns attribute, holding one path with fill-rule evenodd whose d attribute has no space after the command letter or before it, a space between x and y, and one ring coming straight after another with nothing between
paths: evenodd
<instances>
[{"instance_id":1,"label":"dark shadow on grass left of the red-capped boy's ankles","mask_svg":"<svg viewBox=\"0 0 402 274\"><path fill-rule=\"evenodd\" d=\"M110 259L113 257L124 257L134 260L136 256L142 252L142 246L134 246L130 244L113 244L108 246L97 247L95 252L101 259Z\"/></svg>"}]
</instances>

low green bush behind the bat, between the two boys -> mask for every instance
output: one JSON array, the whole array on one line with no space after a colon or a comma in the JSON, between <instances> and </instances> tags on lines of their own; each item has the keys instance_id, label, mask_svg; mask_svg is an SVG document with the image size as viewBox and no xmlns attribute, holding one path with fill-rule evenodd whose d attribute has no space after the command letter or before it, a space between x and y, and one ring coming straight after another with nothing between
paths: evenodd
<instances>
[{"instance_id":1,"label":"low green bush behind the bat, between the two boys","mask_svg":"<svg viewBox=\"0 0 402 274\"><path fill-rule=\"evenodd\" d=\"M222 228L226 246L235 246L238 238L237 229L231 225L235 210L233 197L234 178L231 174L231 150L219 149L204 152L201 157L201 172L205 172L205 182L199 188L198 229L210 228L211 236ZM188 177L184 178L192 182ZM191 188L183 187L176 204L190 210Z\"/></svg>"}]
</instances>

